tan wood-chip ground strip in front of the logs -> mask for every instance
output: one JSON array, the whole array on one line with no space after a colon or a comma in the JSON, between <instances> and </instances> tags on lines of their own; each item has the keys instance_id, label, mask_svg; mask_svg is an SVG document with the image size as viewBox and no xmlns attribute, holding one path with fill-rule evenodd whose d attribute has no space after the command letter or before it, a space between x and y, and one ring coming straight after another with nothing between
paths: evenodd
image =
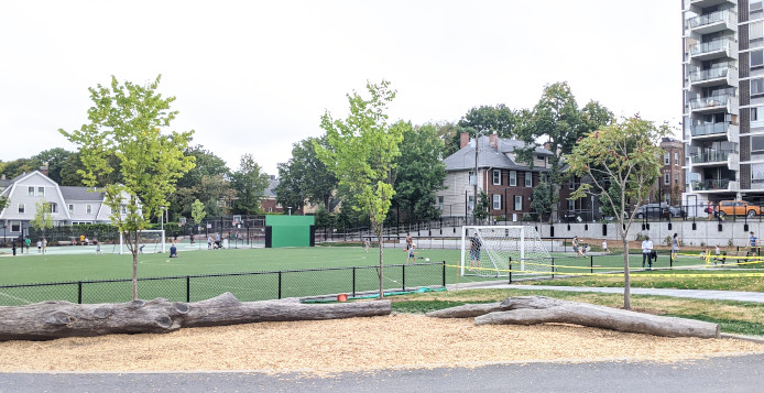
<instances>
[{"instance_id":1,"label":"tan wood-chip ground strip in front of the logs","mask_svg":"<svg viewBox=\"0 0 764 393\"><path fill-rule=\"evenodd\" d=\"M730 339L663 338L569 325L474 326L471 319L394 314L0 342L0 371L266 370L331 373L487 362L679 361L764 352Z\"/></svg>"}]
</instances>

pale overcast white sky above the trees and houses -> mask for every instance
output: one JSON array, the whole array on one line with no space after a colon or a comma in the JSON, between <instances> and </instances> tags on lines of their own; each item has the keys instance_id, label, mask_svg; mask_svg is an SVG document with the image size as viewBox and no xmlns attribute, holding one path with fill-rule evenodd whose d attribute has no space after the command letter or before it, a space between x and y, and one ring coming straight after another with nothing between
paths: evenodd
<instances>
[{"instance_id":1,"label":"pale overcast white sky above the trees and houses","mask_svg":"<svg viewBox=\"0 0 764 393\"><path fill-rule=\"evenodd\" d=\"M76 151L88 88L148 84L231 170L271 175L320 117L367 81L397 91L391 120L458 121L471 108L532 108L567 81L579 106L678 124L679 0L35 1L0 12L0 160ZM677 137L679 131L677 130Z\"/></svg>"}]
</instances>

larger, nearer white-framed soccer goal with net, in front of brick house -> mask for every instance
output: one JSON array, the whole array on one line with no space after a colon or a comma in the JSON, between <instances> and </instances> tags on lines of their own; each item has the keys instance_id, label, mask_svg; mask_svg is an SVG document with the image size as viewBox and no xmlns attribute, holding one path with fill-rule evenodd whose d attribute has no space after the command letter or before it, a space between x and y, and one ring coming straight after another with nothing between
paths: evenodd
<instances>
[{"instance_id":1,"label":"larger, nearer white-framed soccer goal with net, in front of brick house","mask_svg":"<svg viewBox=\"0 0 764 393\"><path fill-rule=\"evenodd\" d=\"M509 276L510 270L550 272L550 262L552 256L534 227L461 227L461 275L500 277Z\"/></svg>"}]
</instances>

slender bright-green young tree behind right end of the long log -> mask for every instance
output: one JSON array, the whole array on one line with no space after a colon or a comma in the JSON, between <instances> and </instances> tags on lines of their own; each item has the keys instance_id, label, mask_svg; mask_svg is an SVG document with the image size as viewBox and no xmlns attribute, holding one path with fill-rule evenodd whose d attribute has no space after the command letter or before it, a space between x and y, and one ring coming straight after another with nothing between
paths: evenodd
<instances>
[{"instance_id":1,"label":"slender bright-green young tree behind right end of the long log","mask_svg":"<svg viewBox=\"0 0 764 393\"><path fill-rule=\"evenodd\" d=\"M382 232L395 196L395 160L401 155L400 144L410 125L402 121L388 123L385 110L395 98L389 81L367 83L367 90L369 98L356 91L347 96L350 105L347 119L332 119L328 111L321 117L321 128L331 149L314 145L319 160L354 196L354 209L363 211L371 221L380 244L379 280L380 297L383 297Z\"/></svg>"}]
</instances>

